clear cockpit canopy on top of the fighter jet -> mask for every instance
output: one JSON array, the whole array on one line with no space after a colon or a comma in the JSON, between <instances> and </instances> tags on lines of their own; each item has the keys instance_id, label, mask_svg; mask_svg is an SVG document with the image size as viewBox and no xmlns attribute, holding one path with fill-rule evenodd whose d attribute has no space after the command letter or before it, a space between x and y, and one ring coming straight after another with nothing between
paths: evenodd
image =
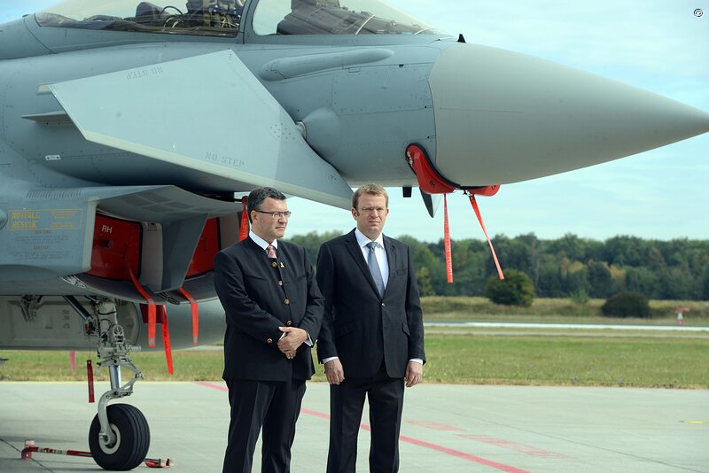
<instances>
[{"instance_id":1,"label":"clear cockpit canopy on top of the fighter jet","mask_svg":"<svg viewBox=\"0 0 709 473\"><path fill-rule=\"evenodd\" d=\"M382 0L256 3L252 25L257 35L438 34ZM35 19L41 27L235 36L242 17L248 21L243 13L244 0L65 0L35 13Z\"/></svg>"}]
</instances>

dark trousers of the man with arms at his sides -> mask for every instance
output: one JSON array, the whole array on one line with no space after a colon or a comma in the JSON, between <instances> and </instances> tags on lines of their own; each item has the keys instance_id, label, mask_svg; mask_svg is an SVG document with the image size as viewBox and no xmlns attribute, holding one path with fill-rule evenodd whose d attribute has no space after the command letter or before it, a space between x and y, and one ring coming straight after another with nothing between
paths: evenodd
<instances>
[{"instance_id":1,"label":"dark trousers of the man with arms at his sides","mask_svg":"<svg viewBox=\"0 0 709 473\"><path fill-rule=\"evenodd\" d=\"M347 376L347 370L345 371ZM354 473L357 434L365 396L370 403L370 472L399 470L399 431L404 401L403 378L391 378L384 365L374 377L346 377L330 386L330 449L327 473Z\"/></svg>"}]
</instances>

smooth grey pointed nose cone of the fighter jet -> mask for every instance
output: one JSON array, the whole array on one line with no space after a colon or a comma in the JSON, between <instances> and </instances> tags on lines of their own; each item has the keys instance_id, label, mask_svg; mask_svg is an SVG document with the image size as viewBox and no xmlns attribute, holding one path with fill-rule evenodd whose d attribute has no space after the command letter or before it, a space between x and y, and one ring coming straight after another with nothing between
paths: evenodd
<instances>
[{"instance_id":1,"label":"smooth grey pointed nose cone of the fighter jet","mask_svg":"<svg viewBox=\"0 0 709 473\"><path fill-rule=\"evenodd\" d=\"M523 54L455 44L429 78L435 165L478 186L619 159L709 131L709 114Z\"/></svg>"}]
</instances>

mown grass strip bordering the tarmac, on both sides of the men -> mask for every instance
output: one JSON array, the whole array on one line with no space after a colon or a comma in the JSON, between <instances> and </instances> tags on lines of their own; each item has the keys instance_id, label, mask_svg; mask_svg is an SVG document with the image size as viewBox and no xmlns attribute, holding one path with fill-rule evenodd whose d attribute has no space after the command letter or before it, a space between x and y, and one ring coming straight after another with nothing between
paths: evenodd
<instances>
[{"instance_id":1,"label":"mown grass strip bordering the tarmac, on both sides of the men","mask_svg":"<svg viewBox=\"0 0 709 473\"><path fill-rule=\"evenodd\" d=\"M574 334L495 332L426 336L426 383L634 386L709 388L709 336L672 334ZM173 353L169 376L164 353L135 353L133 360L151 381L215 380L222 376L223 354L212 350ZM66 352L0 352L0 380L82 381L85 361L95 353L76 353L72 375ZM323 381L323 367L316 366ZM129 376L124 371L124 378ZM108 379L102 369L97 379Z\"/></svg>"}]
</instances>

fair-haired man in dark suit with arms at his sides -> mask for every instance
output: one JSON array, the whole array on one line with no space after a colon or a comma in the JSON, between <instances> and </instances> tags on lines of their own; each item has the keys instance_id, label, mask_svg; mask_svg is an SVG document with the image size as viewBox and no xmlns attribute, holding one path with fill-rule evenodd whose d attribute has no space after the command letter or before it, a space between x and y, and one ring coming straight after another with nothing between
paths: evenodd
<instances>
[{"instance_id":1,"label":"fair-haired man in dark suit with arms at his sides","mask_svg":"<svg viewBox=\"0 0 709 473\"><path fill-rule=\"evenodd\" d=\"M404 385L424 371L424 322L409 246L382 235L383 187L354 192L356 228L320 247L317 282L325 298L317 340L330 387L327 471L353 472L365 396L370 404L370 471L399 469Z\"/></svg>"}]
</instances>

